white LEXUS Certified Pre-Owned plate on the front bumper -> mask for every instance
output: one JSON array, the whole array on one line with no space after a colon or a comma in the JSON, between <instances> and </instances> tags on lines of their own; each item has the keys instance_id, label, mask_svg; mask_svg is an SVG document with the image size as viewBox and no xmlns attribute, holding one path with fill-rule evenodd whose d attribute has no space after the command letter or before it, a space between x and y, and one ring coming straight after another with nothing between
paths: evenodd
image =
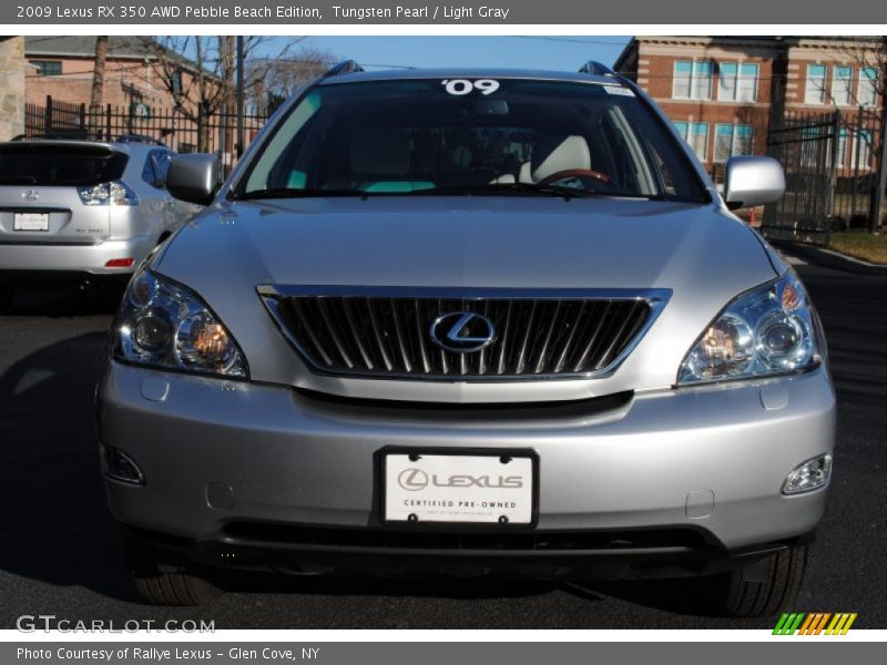
<instances>
[{"instance_id":1,"label":"white LEXUS Certified Pre-Owned plate on the front bumper","mask_svg":"<svg viewBox=\"0 0 887 665\"><path fill-rule=\"evenodd\" d=\"M387 453L385 521L531 524L534 462L528 452Z\"/></svg>"}]
</instances>

